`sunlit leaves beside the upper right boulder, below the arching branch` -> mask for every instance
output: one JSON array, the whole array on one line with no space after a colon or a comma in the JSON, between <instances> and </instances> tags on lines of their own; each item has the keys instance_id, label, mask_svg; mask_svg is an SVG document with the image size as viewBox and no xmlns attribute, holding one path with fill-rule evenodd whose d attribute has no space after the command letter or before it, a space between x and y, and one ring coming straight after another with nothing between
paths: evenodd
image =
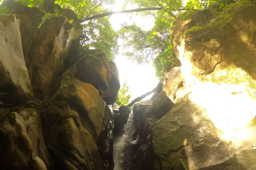
<instances>
[{"instance_id":1,"label":"sunlit leaves beside the upper right boulder, below the arching branch","mask_svg":"<svg viewBox=\"0 0 256 170\"><path fill-rule=\"evenodd\" d=\"M124 55L138 64L154 61L156 77L159 79L164 76L164 70L170 70L174 60L171 57L170 42L170 28L173 21L173 16L161 10L156 12L154 27L149 31L142 30L135 24L123 25L119 31L126 46Z\"/></svg>"}]
</instances>

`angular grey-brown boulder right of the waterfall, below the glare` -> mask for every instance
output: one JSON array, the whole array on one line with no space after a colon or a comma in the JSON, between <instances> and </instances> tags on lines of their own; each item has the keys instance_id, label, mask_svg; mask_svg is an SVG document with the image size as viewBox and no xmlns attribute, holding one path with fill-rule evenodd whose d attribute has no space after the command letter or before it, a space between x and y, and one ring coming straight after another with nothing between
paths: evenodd
<instances>
[{"instance_id":1,"label":"angular grey-brown boulder right of the waterfall, below the glare","mask_svg":"<svg viewBox=\"0 0 256 170\"><path fill-rule=\"evenodd\" d=\"M152 129L155 169L202 169L231 155L204 109L186 98L177 101Z\"/></svg>"}]
</instances>

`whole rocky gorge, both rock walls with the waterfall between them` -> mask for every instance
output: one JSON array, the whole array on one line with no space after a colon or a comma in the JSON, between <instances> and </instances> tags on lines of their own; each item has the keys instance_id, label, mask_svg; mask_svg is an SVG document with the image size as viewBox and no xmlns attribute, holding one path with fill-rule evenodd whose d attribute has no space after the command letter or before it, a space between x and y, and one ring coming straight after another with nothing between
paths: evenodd
<instances>
[{"instance_id":1,"label":"whole rocky gorge, both rock walls with the waterfall between them","mask_svg":"<svg viewBox=\"0 0 256 170\"><path fill-rule=\"evenodd\" d=\"M117 106L114 62L81 45L71 10L0 15L0 166L256 169L256 5L220 2L171 27L175 65L153 96Z\"/></svg>"}]
</instances>

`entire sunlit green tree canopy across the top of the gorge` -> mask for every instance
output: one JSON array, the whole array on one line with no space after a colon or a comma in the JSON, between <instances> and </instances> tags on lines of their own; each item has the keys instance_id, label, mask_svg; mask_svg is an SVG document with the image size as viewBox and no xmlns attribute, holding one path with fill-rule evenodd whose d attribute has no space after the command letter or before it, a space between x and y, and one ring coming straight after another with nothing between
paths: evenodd
<instances>
[{"instance_id":1,"label":"entire sunlit green tree canopy across the top of the gorge","mask_svg":"<svg viewBox=\"0 0 256 170\"><path fill-rule=\"evenodd\" d=\"M0 0L0 3L13 0ZM118 54L118 38L123 39L125 52L138 64L154 61L156 75L163 77L164 71L174 66L170 29L173 21L184 10L197 10L209 6L217 0L189 0L186 4L182 0L124 0L123 11L110 11L106 6L115 0L17 0L29 7L38 7L45 12L45 17L59 15L59 8L67 8L75 12L77 21L83 24L83 34L79 38L84 46L102 49L109 60L114 60ZM55 5L54 5L55 3ZM46 10L46 5L54 6L54 10ZM136 8L128 10L127 6ZM140 12L140 15L151 15L155 19L154 27L143 30L136 24L123 23L123 27L116 32L109 16L116 13ZM0 5L0 13L8 13L8 8Z\"/></svg>"}]
</instances>

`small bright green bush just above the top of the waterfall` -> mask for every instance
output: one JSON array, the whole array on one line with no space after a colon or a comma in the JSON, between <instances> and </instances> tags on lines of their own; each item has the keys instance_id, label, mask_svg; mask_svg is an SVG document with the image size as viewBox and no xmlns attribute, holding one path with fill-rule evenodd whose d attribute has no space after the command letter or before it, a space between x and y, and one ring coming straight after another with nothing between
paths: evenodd
<instances>
[{"instance_id":1,"label":"small bright green bush just above the top of the waterfall","mask_svg":"<svg viewBox=\"0 0 256 170\"><path fill-rule=\"evenodd\" d=\"M127 106L131 98L131 92L129 87L126 85L127 81L124 81L122 88L118 91L118 97L116 99L116 104L119 106Z\"/></svg>"}]
</instances>

